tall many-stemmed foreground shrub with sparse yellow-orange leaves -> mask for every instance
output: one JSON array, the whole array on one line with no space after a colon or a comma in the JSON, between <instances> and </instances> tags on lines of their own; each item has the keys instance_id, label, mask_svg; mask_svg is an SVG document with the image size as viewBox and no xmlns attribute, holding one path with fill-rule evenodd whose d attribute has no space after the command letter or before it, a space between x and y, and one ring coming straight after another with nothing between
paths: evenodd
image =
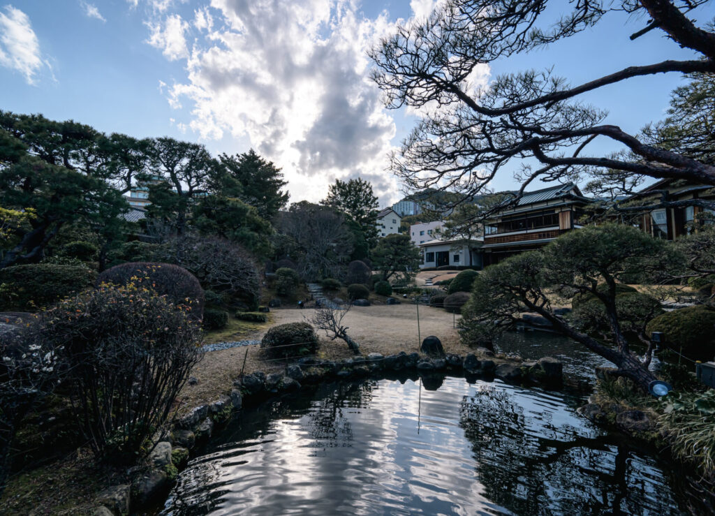
<instances>
[{"instance_id":1,"label":"tall many-stemmed foreground shrub with sparse yellow-orange leaves","mask_svg":"<svg viewBox=\"0 0 715 516\"><path fill-rule=\"evenodd\" d=\"M172 414L201 356L187 309L141 284L101 286L36 315L21 336L56 356L97 455L136 461Z\"/></svg>"}]
</instances>

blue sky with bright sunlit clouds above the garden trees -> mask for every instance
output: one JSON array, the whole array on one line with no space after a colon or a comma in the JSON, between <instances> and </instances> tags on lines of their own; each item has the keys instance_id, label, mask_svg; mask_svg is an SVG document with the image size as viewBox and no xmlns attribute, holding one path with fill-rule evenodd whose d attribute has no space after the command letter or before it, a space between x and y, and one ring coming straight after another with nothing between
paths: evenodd
<instances>
[{"instance_id":1,"label":"blue sky with bright sunlit clouds above the garden trees","mask_svg":"<svg viewBox=\"0 0 715 516\"><path fill-rule=\"evenodd\" d=\"M291 202L317 202L335 179L363 177L384 207L403 197L388 154L416 119L385 109L366 52L437 1L0 0L0 109L200 142L212 154L253 148L282 167ZM554 0L552 13L564 4ZM698 14L714 19L715 9ZM475 80L553 66L577 84L693 56L657 30L630 41L646 23L611 13L547 49L480 66ZM635 133L664 116L683 83L661 74L582 98ZM592 152L615 149L596 140ZM516 185L506 171L491 187Z\"/></svg>"}]
</instances>

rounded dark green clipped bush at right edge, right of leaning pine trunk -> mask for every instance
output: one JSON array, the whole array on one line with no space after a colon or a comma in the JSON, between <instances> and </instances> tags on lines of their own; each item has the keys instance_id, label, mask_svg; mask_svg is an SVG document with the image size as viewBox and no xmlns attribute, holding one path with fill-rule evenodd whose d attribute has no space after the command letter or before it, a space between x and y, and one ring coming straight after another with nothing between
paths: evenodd
<instances>
[{"instance_id":1,"label":"rounded dark green clipped bush at right edge, right of leaning pine trunk","mask_svg":"<svg viewBox=\"0 0 715 516\"><path fill-rule=\"evenodd\" d=\"M691 359L711 360L715 355L715 309L698 304L655 317L646 332L663 332L666 345Z\"/></svg>"}]
</instances>

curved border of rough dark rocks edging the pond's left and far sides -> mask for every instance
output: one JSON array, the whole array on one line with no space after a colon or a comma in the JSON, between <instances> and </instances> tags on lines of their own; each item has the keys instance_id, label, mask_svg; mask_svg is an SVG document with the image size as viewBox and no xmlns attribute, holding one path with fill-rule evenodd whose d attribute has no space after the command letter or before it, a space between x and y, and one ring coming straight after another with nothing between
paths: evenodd
<instances>
[{"instance_id":1,"label":"curved border of rough dark rocks edging the pond's left and far sides","mask_svg":"<svg viewBox=\"0 0 715 516\"><path fill-rule=\"evenodd\" d=\"M387 379L394 374L413 374L430 377L432 374L470 379L499 378L511 384L541 385L561 388L563 364L551 357L536 362L521 359L498 359L485 348L476 349L464 357L458 354L427 357L419 353L400 352L387 357L370 353L367 357L345 360L302 358L287 365L285 374L255 372L245 374L233 382L231 394L215 402L199 405L172 422L172 430L160 438L144 464L132 468L131 484L108 487L97 496L96 516L121 516L152 507L166 497L177 479L179 470L186 467L191 450L207 442L217 425L231 420L235 412L247 403L270 400L299 392L303 386L356 380L363 378Z\"/></svg>"}]
</instances>

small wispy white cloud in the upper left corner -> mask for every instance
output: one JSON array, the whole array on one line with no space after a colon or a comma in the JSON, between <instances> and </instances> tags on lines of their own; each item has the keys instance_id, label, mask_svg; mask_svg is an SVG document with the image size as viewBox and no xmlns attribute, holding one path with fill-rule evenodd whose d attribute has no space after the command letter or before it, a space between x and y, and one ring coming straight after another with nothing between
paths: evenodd
<instances>
[{"instance_id":1,"label":"small wispy white cloud in the upper left corner","mask_svg":"<svg viewBox=\"0 0 715 516\"><path fill-rule=\"evenodd\" d=\"M19 71L27 84L34 84L44 64L30 19L19 9L5 6L0 12L0 66Z\"/></svg>"}]
</instances>

